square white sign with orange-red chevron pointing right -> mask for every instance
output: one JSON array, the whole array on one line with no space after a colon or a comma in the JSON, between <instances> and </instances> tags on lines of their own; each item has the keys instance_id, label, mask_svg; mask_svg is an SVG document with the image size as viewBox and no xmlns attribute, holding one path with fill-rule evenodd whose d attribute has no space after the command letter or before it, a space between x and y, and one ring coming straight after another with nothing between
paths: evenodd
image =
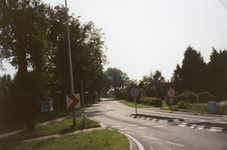
<instances>
[{"instance_id":1,"label":"square white sign with orange-red chevron pointing right","mask_svg":"<svg viewBox=\"0 0 227 150\"><path fill-rule=\"evenodd\" d=\"M80 107L80 94L66 95L67 108Z\"/></svg>"}]
</instances>

